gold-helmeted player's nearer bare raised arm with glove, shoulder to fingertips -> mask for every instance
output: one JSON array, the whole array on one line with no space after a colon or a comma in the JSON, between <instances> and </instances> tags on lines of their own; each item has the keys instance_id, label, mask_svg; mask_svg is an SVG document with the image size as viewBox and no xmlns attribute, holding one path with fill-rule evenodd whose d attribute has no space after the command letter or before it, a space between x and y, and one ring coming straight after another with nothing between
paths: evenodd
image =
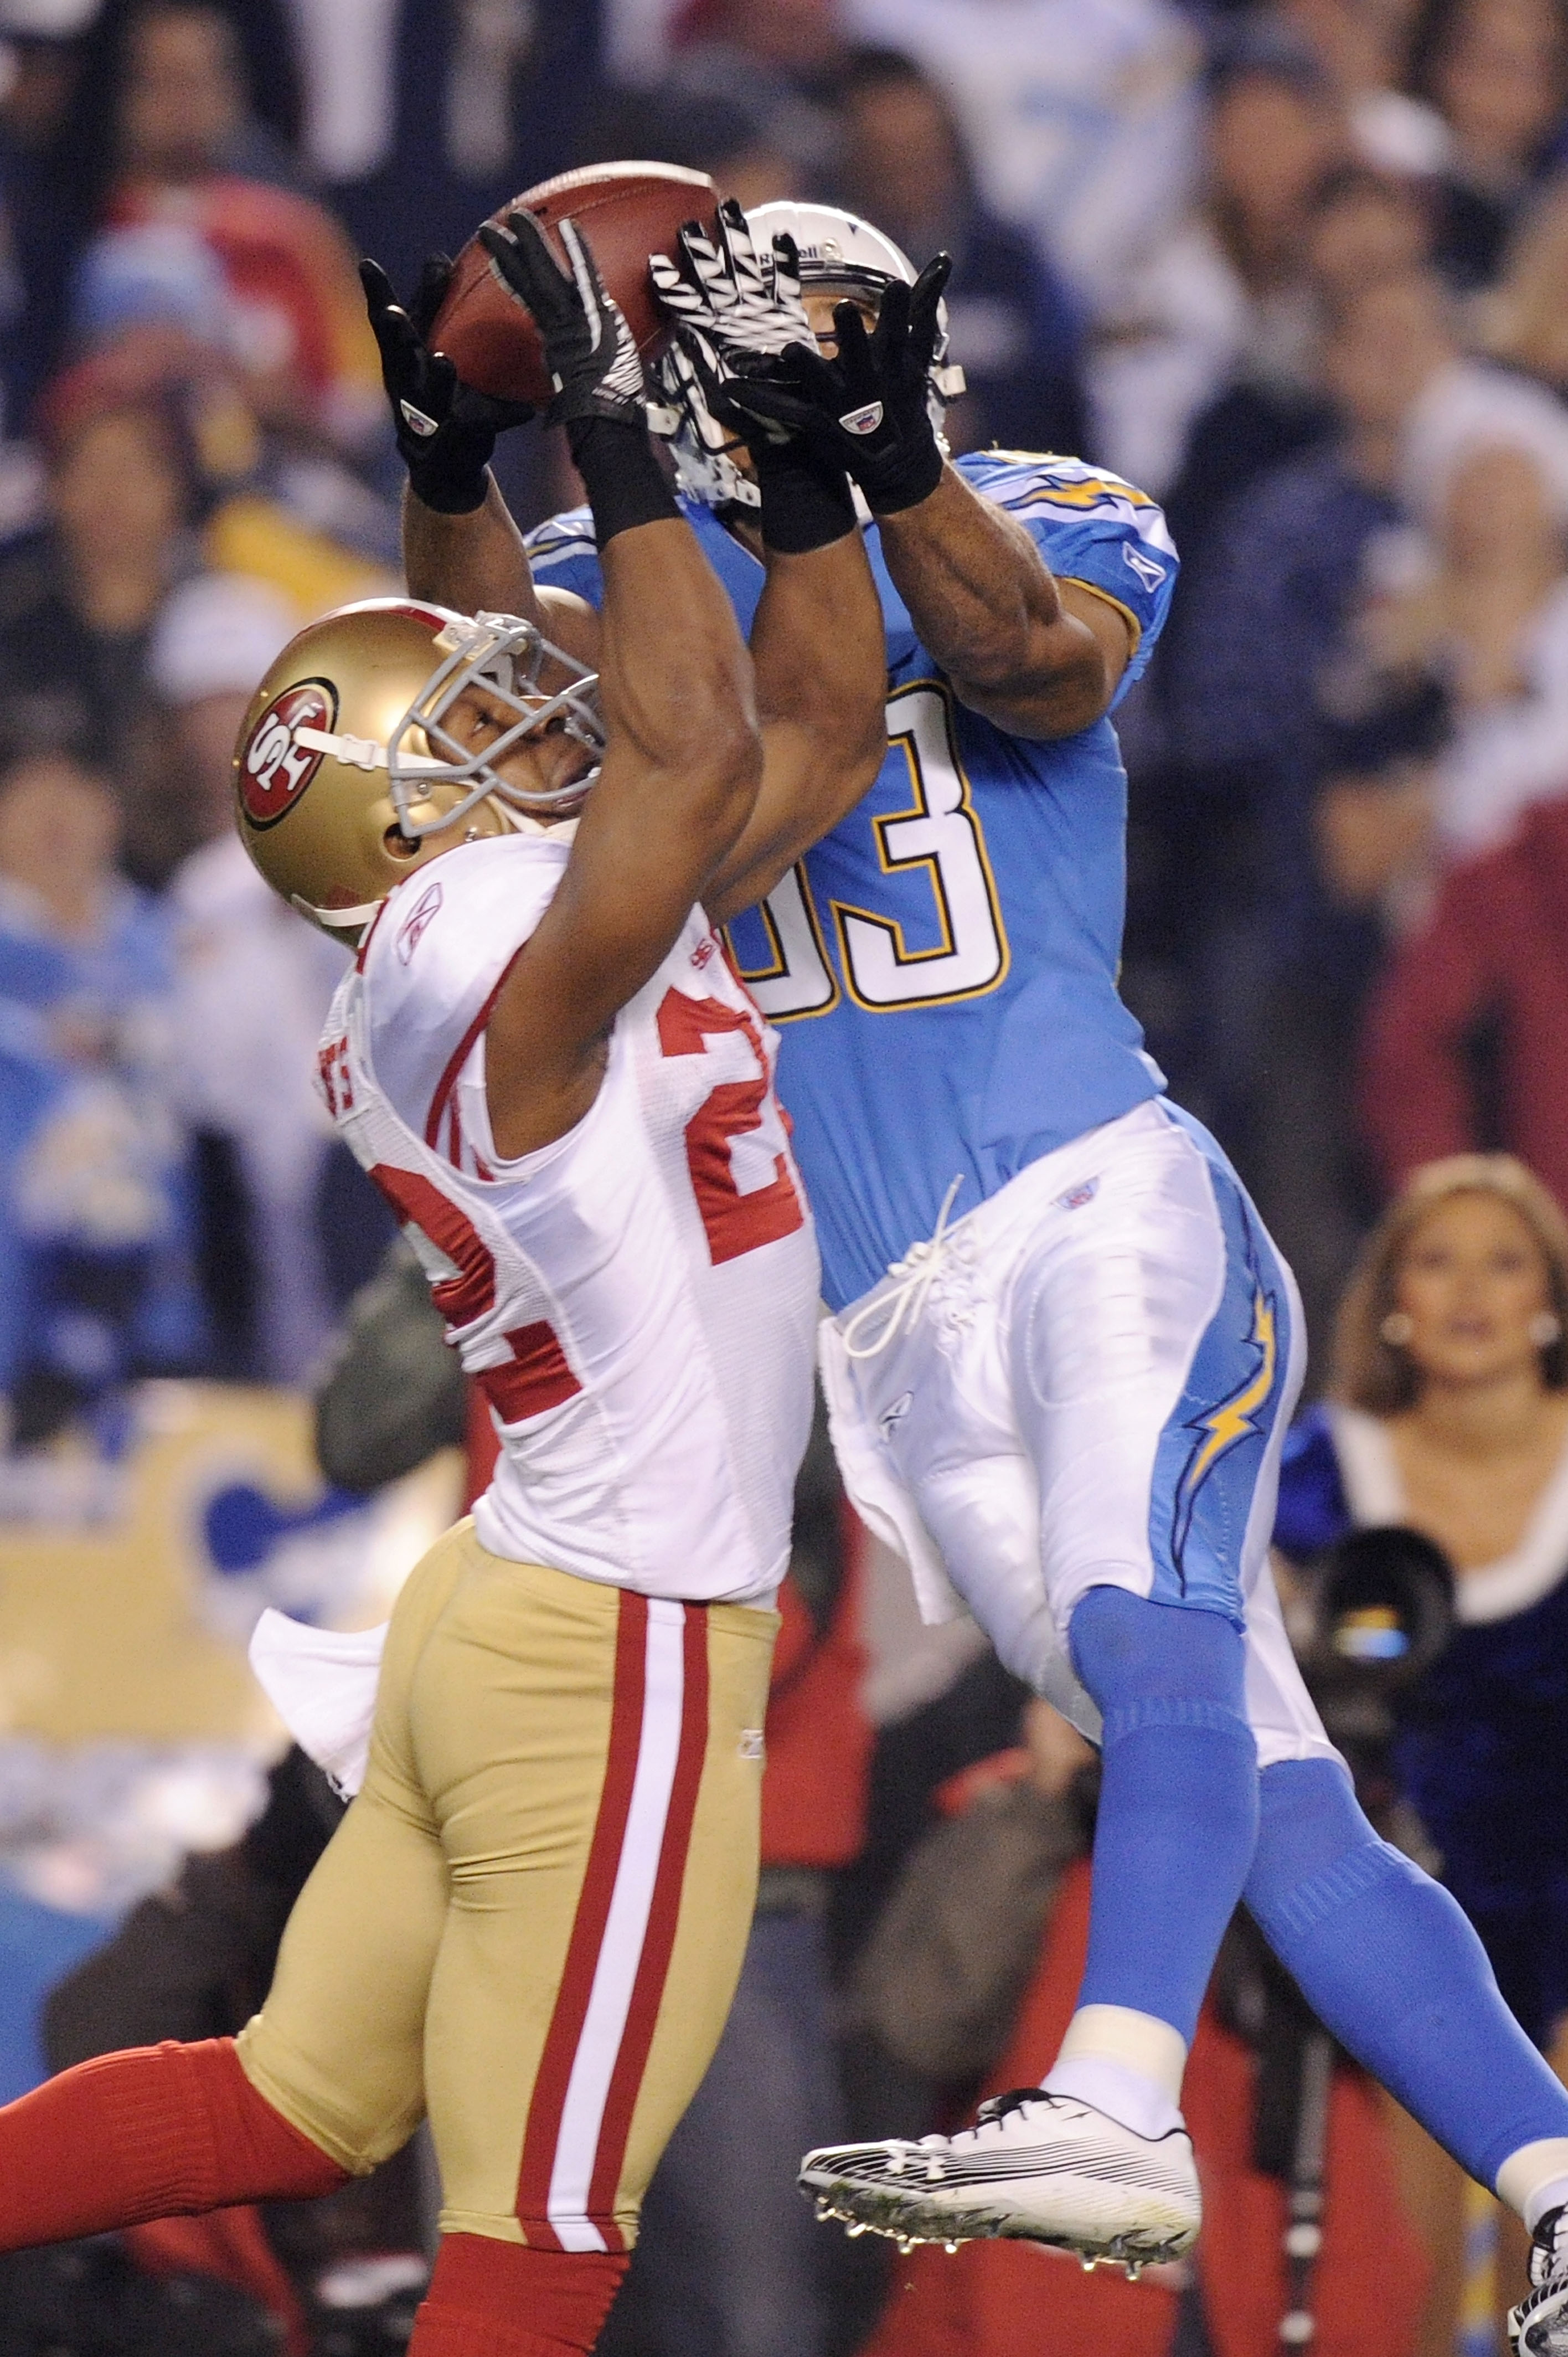
<instances>
[{"instance_id":1,"label":"gold-helmeted player's nearer bare raised arm with glove, shoulder to fingertips","mask_svg":"<svg viewBox=\"0 0 1568 2357\"><path fill-rule=\"evenodd\" d=\"M587 245L561 224L566 278L531 214L483 236L545 339L604 563L604 768L486 1028L490 1131L514 1157L592 1105L611 1021L752 813L762 747L740 632L653 455L641 361Z\"/></svg>"}]
</instances>

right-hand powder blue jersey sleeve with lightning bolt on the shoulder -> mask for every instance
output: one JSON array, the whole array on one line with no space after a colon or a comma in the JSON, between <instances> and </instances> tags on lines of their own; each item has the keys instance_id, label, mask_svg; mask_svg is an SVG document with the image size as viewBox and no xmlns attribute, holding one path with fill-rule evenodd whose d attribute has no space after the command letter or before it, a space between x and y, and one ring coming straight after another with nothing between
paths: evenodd
<instances>
[{"instance_id":1,"label":"right-hand powder blue jersey sleeve with lightning bolt on the shoulder","mask_svg":"<svg viewBox=\"0 0 1568 2357\"><path fill-rule=\"evenodd\" d=\"M1155 502L1120 474L1075 457L983 450L957 462L960 474L1016 516L1056 580L1075 580L1108 599L1132 632L1132 658L1111 709L1148 665L1177 587L1177 544Z\"/></svg>"}]
</instances>

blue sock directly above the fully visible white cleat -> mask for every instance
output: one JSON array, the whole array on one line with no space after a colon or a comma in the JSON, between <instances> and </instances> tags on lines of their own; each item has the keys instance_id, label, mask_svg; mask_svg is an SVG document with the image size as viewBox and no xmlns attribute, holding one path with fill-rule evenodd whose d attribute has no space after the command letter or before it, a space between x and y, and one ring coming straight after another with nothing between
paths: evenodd
<instances>
[{"instance_id":1,"label":"blue sock directly above the fully visible white cleat","mask_svg":"<svg viewBox=\"0 0 1568 2357\"><path fill-rule=\"evenodd\" d=\"M1245 1645L1219 1612L1089 1589L1073 1662L1106 1714L1080 2006L1132 2006L1193 2044L1257 1838Z\"/></svg>"}]
</instances>

